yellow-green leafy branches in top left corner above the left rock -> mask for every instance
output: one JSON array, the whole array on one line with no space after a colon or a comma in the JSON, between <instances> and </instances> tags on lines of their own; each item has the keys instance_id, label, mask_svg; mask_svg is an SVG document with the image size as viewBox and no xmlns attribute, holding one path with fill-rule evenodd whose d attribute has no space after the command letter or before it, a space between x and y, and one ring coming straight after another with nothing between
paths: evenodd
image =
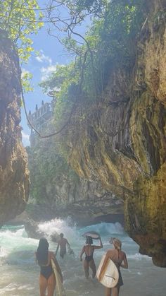
<instances>
[{"instance_id":1,"label":"yellow-green leafy branches in top left corner above the left rock","mask_svg":"<svg viewBox=\"0 0 166 296\"><path fill-rule=\"evenodd\" d=\"M15 43L20 61L27 61L32 54L31 35L42 27L42 17L37 0L0 1L0 28Z\"/></svg>"}]
</instances>

